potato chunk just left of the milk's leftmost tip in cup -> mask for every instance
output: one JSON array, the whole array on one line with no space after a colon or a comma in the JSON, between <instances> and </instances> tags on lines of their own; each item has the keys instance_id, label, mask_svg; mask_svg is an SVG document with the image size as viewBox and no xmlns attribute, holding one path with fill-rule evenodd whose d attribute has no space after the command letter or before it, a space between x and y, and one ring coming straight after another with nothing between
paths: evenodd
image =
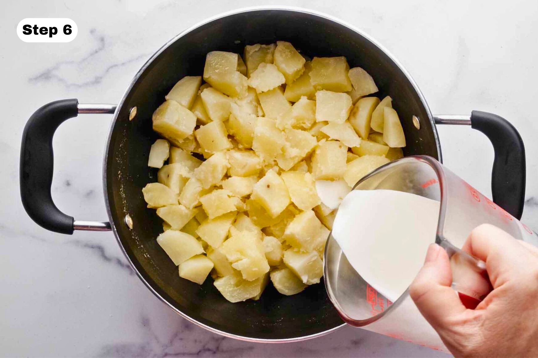
<instances>
[{"instance_id":1,"label":"potato chunk just left of the milk's leftmost tip in cup","mask_svg":"<svg viewBox=\"0 0 538 358\"><path fill-rule=\"evenodd\" d=\"M316 217L312 210L303 211L289 222L283 239L301 251L314 251L327 239L329 231Z\"/></svg>"}]
</instances>

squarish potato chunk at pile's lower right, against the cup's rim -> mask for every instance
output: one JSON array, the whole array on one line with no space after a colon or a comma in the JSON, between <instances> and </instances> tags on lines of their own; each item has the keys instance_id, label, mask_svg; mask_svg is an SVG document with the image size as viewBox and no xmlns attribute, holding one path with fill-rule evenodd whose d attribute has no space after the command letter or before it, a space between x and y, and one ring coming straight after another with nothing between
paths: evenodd
<instances>
[{"instance_id":1,"label":"squarish potato chunk at pile's lower right, against the cup's rim","mask_svg":"<svg viewBox=\"0 0 538 358\"><path fill-rule=\"evenodd\" d=\"M323 276L323 261L315 251L298 252L288 249L284 251L284 264L306 284L318 283Z\"/></svg>"}]
</instances>

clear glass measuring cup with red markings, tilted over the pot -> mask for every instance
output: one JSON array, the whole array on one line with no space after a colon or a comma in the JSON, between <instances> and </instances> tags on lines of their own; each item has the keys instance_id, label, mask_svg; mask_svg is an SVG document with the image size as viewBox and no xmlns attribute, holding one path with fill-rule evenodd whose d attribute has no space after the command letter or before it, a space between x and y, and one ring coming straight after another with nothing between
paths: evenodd
<instances>
[{"instance_id":1,"label":"clear glass measuring cup with red markings, tilted over the pot","mask_svg":"<svg viewBox=\"0 0 538 358\"><path fill-rule=\"evenodd\" d=\"M538 246L538 236L525 224L428 156L388 163L368 174L353 189L391 189L440 201L437 233L431 241L447 250L451 257L452 287L462 302L469 305L479 302L491 290L485 279L484 262L460 250L472 229L490 223L516 239ZM390 249L388 244L387 248ZM448 352L408 291L395 302L378 293L349 264L332 233L325 246L324 262L327 293L346 323Z\"/></svg>"}]
</instances>

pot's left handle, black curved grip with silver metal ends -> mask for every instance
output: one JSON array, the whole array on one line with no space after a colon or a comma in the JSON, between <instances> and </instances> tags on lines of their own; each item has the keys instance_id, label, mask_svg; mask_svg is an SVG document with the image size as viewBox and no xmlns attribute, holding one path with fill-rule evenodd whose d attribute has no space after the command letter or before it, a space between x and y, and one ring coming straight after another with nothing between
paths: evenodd
<instances>
[{"instance_id":1,"label":"pot's left handle, black curved grip with silver metal ends","mask_svg":"<svg viewBox=\"0 0 538 358\"><path fill-rule=\"evenodd\" d=\"M26 122L20 146L20 198L26 213L41 227L69 235L75 229L110 229L109 223L102 222L79 222L75 225L74 218L62 213L52 201L52 138L56 128L79 113L114 113L116 108L111 105L84 106L81 111L77 99L62 99L39 108ZM103 109L100 106L107 107Z\"/></svg>"}]
</instances>

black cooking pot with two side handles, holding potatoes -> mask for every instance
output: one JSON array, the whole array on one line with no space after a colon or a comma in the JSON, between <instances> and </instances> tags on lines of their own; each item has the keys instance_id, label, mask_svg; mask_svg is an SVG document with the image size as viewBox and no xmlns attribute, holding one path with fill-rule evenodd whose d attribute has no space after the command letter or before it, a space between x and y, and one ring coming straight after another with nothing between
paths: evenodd
<instances>
[{"instance_id":1,"label":"black cooking pot with two side handles, holding potatoes","mask_svg":"<svg viewBox=\"0 0 538 358\"><path fill-rule=\"evenodd\" d=\"M112 230L132 269L155 296L182 317L210 331L251 341L296 341L317 337L343 326L323 283L294 296L270 286L259 301L230 303L213 286L181 279L157 244L161 220L148 210L141 189L156 181L147 166L157 139L151 115L165 94L183 76L200 75L213 50L242 53L245 45L284 40L303 54L345 56L351 67L364 68L379 87L376 96L394 99L407 138L405 155L428 155L441 161L436 123L471 125L490 137L495 150L493 199L521 216L525 192L525 153L521 138L507 121L493 114L431 115L426 100L407 71L379 43L357 28L325 14L293 8L251 8L203 21L161 47L138 71L119 104L54 101L39 108L23 133L20 193L29 216L45 229ZM114 114L103 162L103 188L109 222L74 220L51 198L52 137L55 129L78 113ZM415 118L413 117L415 116Z\"/></svg>"}]
</instances>

